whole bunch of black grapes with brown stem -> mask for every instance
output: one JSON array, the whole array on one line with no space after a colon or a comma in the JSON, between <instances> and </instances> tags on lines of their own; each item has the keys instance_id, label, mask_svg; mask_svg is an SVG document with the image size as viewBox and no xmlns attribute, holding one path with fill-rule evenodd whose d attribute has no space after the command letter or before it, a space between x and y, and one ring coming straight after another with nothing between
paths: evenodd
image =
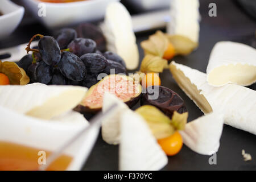
<instances>
[{"instance_id":1,"label":"whole bunch of black grapes with brown stem","mask_svg":"<svg viewBox=\"0 0 256 182\"><path fill-rule=\"evenodd\" d=\"M80 25L81 36L85 37L92 27L91 24ZM92 38L91 34L88 35ZM101 44L100 47L92 39L77 38L77 32L72 28L63 28L53 36L40 36L38 49L29 48L33 51L32 55L24 56L17 64L26 71L31 83L48 85L90 88L100 81L100 73L110 75L110 70L114 69L115 74L126 74L126 65L120 56L109 51L101 53L105 48L105 42L102 41L104 36L100 32L94 32L93 36Z\"/></svg>"}]
</instances>

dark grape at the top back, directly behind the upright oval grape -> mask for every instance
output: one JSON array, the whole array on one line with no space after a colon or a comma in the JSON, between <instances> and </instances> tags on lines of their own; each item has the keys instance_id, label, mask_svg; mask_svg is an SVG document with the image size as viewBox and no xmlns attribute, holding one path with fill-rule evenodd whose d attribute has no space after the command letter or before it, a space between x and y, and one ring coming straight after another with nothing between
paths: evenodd
<instances>
[{"instance_id":1,"label":"dark grape at the top back, directly behind the upright oval grape","mask_svg":"<svg viewBox=\"0 0 256 182\"><path fill-rule=\"evenodd\" d=\"M77 32L73 28L62 28L55 32L53 38L59 43L60 49L66 49L68 44L77 38Z\"/></svg>"}]
</instances>

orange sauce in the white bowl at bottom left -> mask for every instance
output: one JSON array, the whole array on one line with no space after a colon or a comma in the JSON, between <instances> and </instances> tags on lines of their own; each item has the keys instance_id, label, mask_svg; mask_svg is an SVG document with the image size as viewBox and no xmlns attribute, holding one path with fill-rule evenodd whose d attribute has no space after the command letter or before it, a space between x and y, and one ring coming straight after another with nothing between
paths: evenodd
<instances>
[{"instance_id":1,"label":"orange sauce in the white bowl at bottom left","mask_svg":"<svg viewBox=\"0 0 256 182\"><path fill-rule=\"evenodd\" d=\"M42 155L38 155L37 148L22 146L16 143L0 141L0 171L36 171L39 164L38 159ZM47 157L51 152L46 151ZM64 171L72 162L72 157L61 155L47 169L47 171Z\"/></svg>"}]
</instances>

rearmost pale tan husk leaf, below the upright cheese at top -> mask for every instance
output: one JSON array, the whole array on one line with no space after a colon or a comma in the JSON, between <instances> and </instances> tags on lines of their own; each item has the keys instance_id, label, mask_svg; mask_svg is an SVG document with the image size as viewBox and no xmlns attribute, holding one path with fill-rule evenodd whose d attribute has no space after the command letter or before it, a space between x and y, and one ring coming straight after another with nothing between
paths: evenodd
<instances>
[{"instance_id":1,"label":"rearmost pale tan husk leaf, below the upright cheese at top","mask_svg":"<svg viewBox=\"0 0 256 182\"><path fill-rule=\"evenodd\" d=\"M198 43L181 35L167 35L170 43L175 47L176 55L188 55L198 47Z\"/></svg>"}]
</instances>

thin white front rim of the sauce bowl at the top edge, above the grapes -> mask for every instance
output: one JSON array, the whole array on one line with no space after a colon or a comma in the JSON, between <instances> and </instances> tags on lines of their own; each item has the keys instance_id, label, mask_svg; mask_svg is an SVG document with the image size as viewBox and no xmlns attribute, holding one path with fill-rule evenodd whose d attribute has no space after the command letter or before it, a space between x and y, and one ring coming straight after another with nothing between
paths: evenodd
<instances>
[{"instance_id":1,"label":"thin white front rim of the sauce bowl at the top edge, above the grapes","mask_svg":"<svg viewBox=\"0 0 256 182\"><path fill-rule=\"evenodd\" d=\"M57 7L57 6L77 6L77 5L81 5L81 4L92 4L100 1L106 1L106 0L85 0L85 1L75 1L75 2L67 2L67 3L53 3L53 2L43 2L40 0L29 0L35 3L45 3L47 6L52 6L52 7ZM108 0L107 0L108 1ZM115 1L120 1L120 0L115 0Z\"/></svg>"}]
</instances>

